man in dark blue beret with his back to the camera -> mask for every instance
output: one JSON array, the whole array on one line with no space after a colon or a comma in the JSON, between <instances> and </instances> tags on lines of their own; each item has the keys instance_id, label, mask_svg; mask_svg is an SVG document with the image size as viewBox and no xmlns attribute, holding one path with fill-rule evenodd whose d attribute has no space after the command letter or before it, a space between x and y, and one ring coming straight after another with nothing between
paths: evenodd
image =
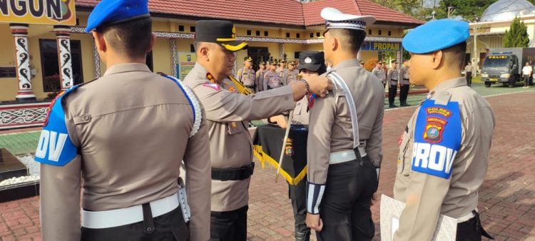
<instances>
[{"instance_id":1,"label":"man in dark blue beret with his back to the camera","mask_svg":"<svg viewBox=\"0 0 535 241\"><path fill-rule=\"evenodd\" d=\"M58 96L41 132L43 240L209 238L208 126L189 88L146 66L151 23L147 0L103 0L88 18L107 71Z\"/></svg>"}]
</instances>

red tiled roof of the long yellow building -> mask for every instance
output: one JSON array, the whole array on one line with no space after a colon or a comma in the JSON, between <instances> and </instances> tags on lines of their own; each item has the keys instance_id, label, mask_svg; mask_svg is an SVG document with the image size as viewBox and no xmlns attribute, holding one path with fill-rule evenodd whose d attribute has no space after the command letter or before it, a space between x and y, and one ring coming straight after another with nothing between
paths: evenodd
<instances>
[{"instance_id":1,"label":"red tiled roof of the long yellow building","mask_svg":"<svg viewBox=\"0 0 535 241\"><path fill-rule=\"evenodd\" d=\"M100 0L76 0L76 6L92 8L98 2ZM378 21L423 24L422 21L367 0L321 0L307 4L295 0L149 0L148 6L153 14L290 26L323 24L320 11L332 6L348 14L373 15Z\"/></svg>"}]
</instances>

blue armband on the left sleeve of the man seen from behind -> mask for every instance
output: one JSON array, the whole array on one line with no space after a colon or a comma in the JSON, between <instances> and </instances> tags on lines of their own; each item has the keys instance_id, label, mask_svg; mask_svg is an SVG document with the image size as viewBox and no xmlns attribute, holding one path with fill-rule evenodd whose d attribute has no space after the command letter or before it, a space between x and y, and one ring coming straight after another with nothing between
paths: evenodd
<instances>
[{"instance_id":1,"label":"blue armband on the left sleeve of the man seen from behind","mask_svg":"<svg viewBox=\"0 0 535 241\"><path fill-rule=\"evenodd\" d=\"M76 157L78 147L74 145L68 135L63 98L87 83L91 83L91 81L81 83L59 93L50 104L35 152L34 160L37 162L63 166Z\"/></svg>"}]
</instances>

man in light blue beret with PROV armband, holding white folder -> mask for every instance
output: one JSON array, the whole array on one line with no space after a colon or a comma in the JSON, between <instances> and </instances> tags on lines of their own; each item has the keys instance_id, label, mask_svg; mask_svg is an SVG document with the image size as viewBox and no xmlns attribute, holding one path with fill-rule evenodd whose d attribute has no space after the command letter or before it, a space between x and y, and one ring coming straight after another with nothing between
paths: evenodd
<instances>
[{"instance_id":1,"label":"man in light blue beret with PROV armband, holding white folder","mask_svg":"<svg viewBox=\"0 0 535 241\"><path fill-rule=\"evenodd\" d=\"M403 39L411 82L430 92L399 146L394 198L407 205L394 240L432 240L441 214L457 218L457 240L491 238L481 227L477 190L495 122L489 103L461 75L468 37L467 22L440 19Z\"/></svg>"}]
</instances>

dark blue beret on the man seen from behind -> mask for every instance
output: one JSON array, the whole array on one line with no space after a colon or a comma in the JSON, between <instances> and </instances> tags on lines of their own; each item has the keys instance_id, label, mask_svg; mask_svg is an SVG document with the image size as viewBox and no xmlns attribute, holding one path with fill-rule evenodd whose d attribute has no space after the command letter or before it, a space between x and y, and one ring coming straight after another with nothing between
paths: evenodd
<instances>
[{"instance_id":1,"label":"dark blue beret on the man seen from behind","mask_svg":"<svg viewBox=\"0 0 535 241\"><path fill-rule=\"evenodd\" d=\"M119 24L150 17L148 0L102 0L89 14L86 31L101 25Z\"/></svg>"}]
</instances>

